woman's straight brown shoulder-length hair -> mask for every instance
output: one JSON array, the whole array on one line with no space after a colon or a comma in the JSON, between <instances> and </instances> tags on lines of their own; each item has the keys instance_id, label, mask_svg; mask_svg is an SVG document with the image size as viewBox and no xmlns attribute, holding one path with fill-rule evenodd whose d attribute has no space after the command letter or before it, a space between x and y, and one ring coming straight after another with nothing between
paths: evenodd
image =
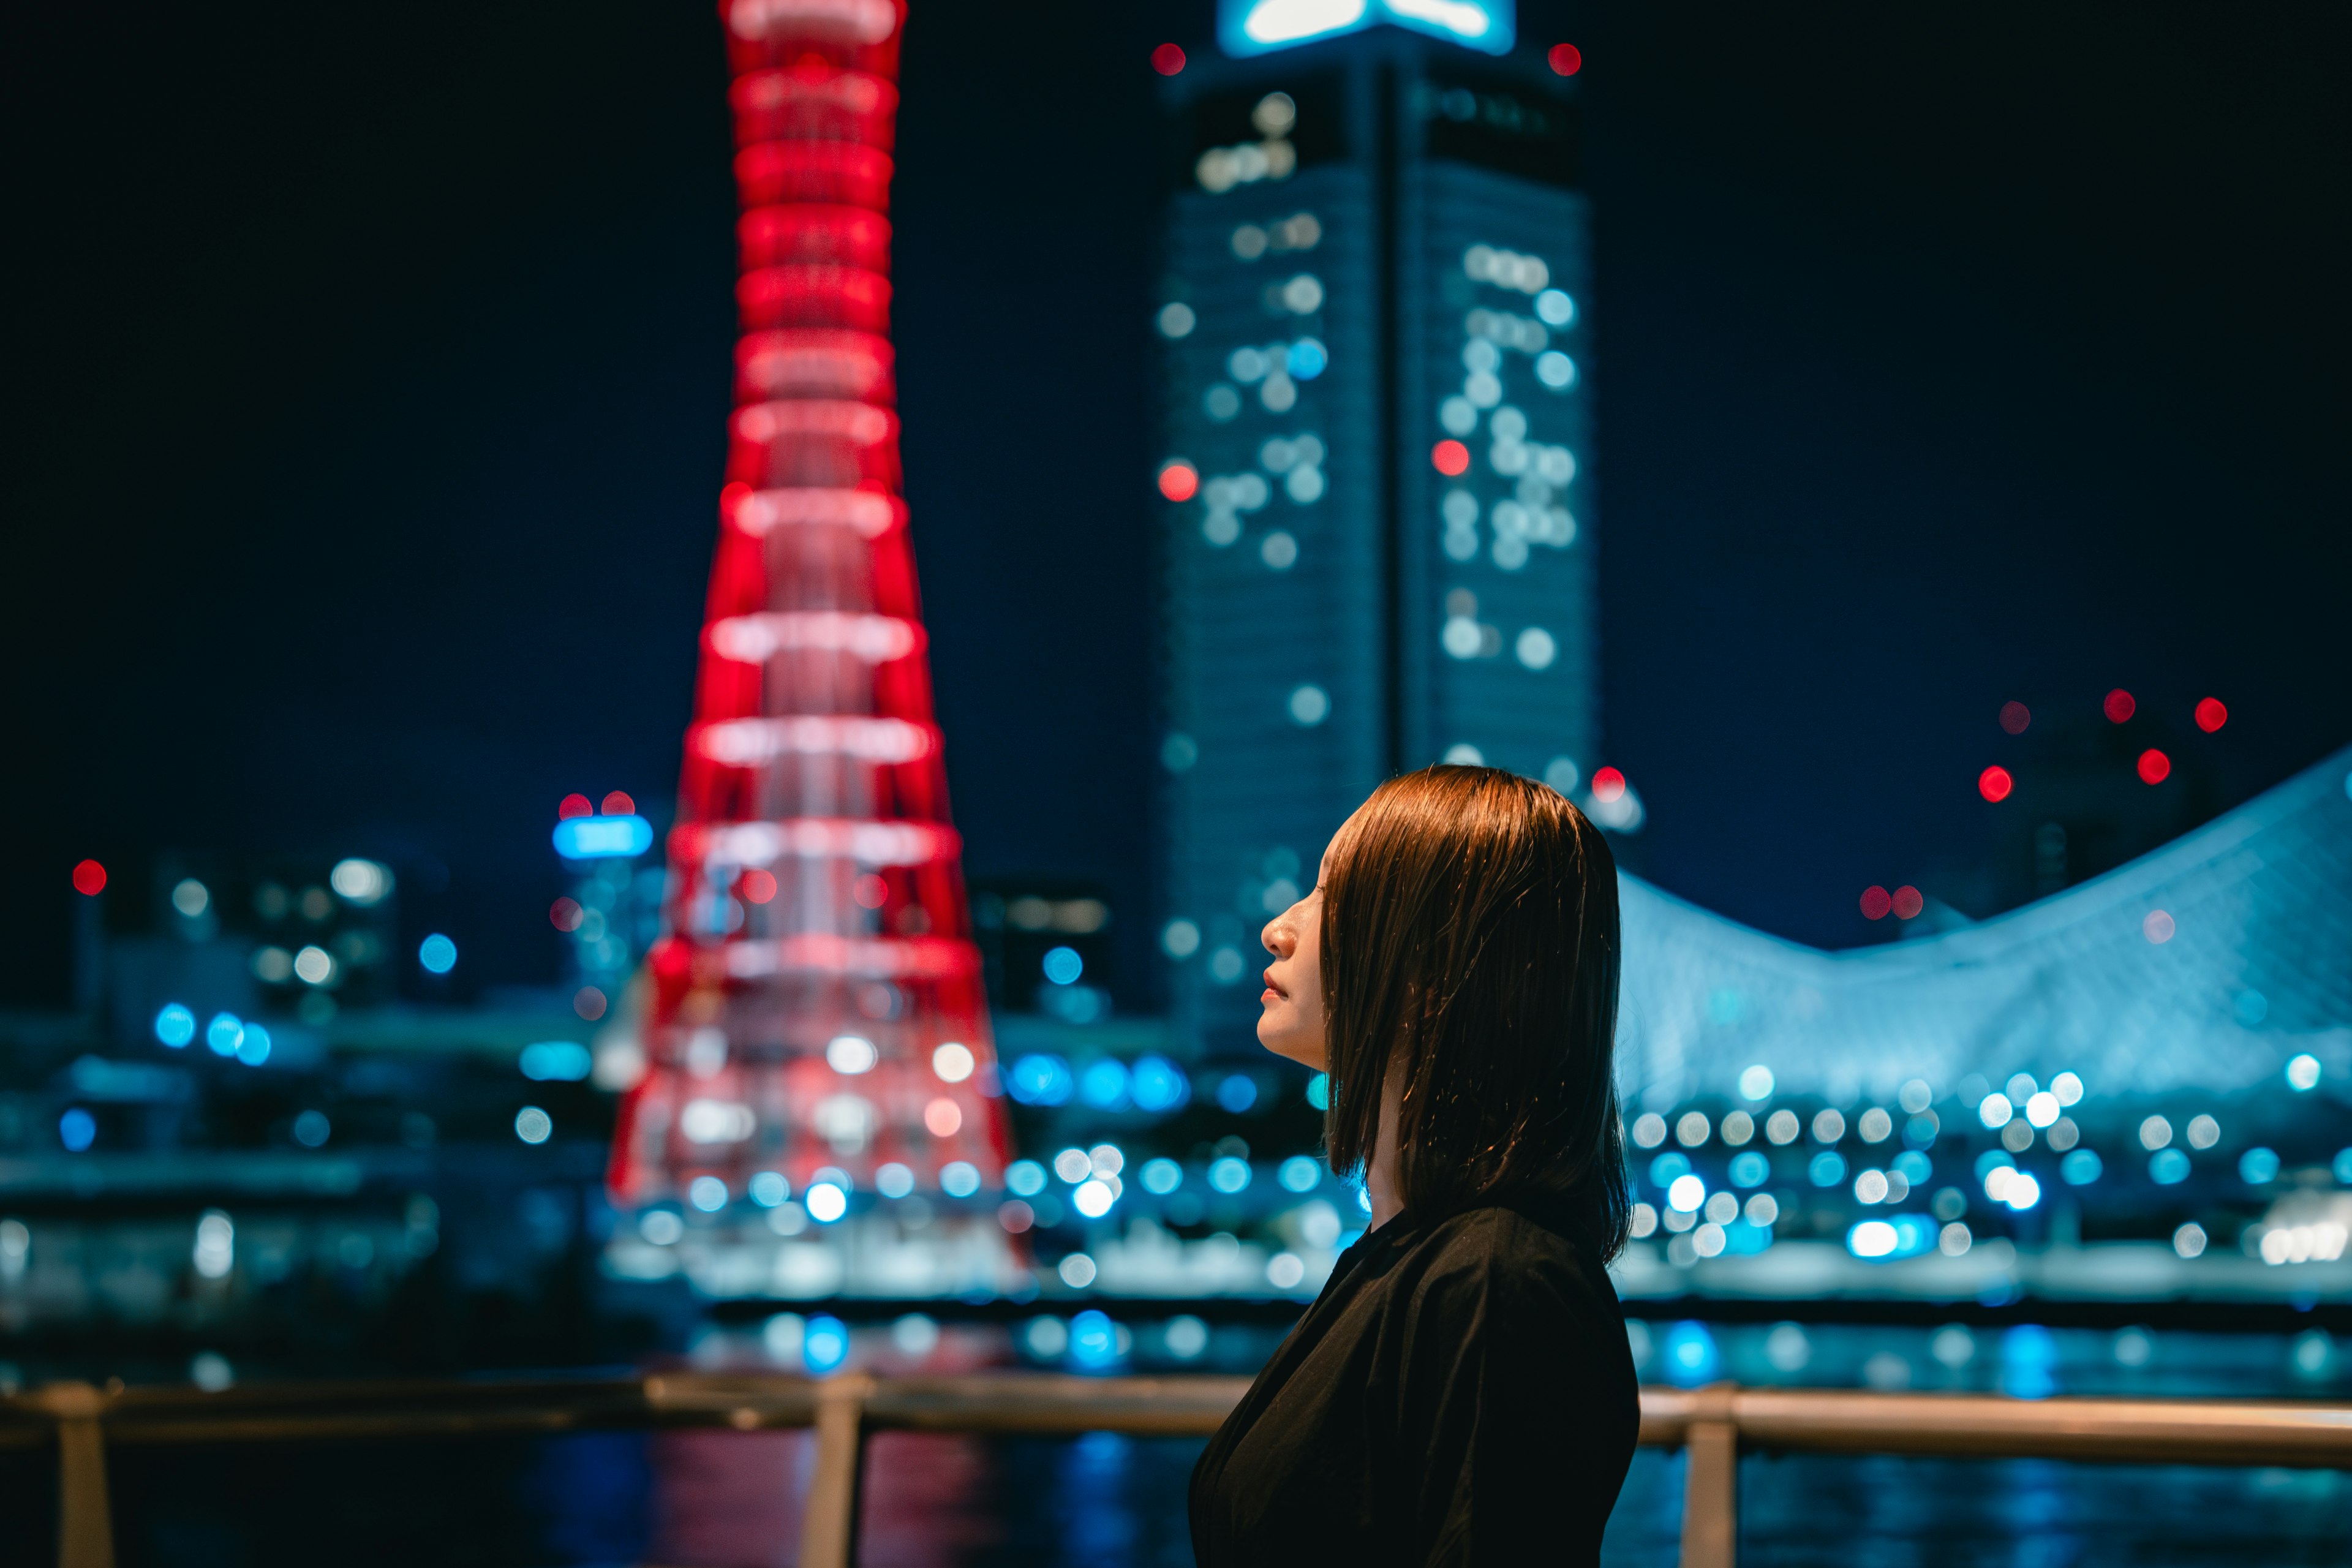
<instances>
[{"instance_id":1,"label":"woman's straight brown shoulder-length hair","mask_svg":"<svg viewBox=\"0 0 2352 1568\"><path fill-rule=\"evenodd\" d=\"M1390 778L1324 879L1322 985L1334 1171L1371 1159L1399 1072L1406 1208L1550 1192L1625 1246L1616 858L1576 806L1501 769Z\"/></svg>"}]
</instances>

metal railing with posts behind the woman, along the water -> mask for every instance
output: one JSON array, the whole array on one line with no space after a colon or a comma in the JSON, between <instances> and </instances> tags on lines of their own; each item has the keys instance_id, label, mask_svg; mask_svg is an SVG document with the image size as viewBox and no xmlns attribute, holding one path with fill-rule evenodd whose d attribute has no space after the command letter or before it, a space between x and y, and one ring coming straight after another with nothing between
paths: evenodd
<instances>
[{"instance_id":1,"label":"metal railing with posts behind the woman, along the water","mask_svg":"<svg viewBox=\"0 0 2352 1568\"><path fill-rule=\"evenodd\" d=\"M557 1434L600 1427L814 1427L800 1568L856 1556L858 1467L880 1429L1207 1436L1247 1378L781 1378L659 1373L546 1382L313 1382L0 1399L0 1443L56 1443L61 1568L113 1568L106 1450ZM2352 1469L2352 1406L2204 1399L1999 1399L1846 1389L1642 1389L1642 1443L1684 1448L1684 1568L1731 1568L1740 1448Z\"/></svg>"}]
</instances>

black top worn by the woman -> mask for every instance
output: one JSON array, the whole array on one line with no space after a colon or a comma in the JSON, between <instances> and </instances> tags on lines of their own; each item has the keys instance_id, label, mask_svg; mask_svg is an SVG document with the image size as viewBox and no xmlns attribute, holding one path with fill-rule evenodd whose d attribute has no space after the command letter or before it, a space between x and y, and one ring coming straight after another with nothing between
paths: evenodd
<instances>
[{"instance_id":1,"label":"black top worn by the woman","mask_svg":"<svg viewBox=\"0 0 2352 1568\"><path fill-rule=\"evenodd\" d=\"M1642 1401L1569 1229L1515 1197L1341 1253L1192 1469L1200 1568L1597 1563Z\"/></svg>"}]
</instances>

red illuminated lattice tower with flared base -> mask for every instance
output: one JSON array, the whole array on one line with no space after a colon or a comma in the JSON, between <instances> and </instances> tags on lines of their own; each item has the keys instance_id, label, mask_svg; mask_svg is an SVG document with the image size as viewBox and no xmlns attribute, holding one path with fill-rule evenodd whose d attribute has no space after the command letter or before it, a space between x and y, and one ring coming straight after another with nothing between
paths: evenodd
<instances>
[{"instance_id":1,"label":"red illuminated lattice tower with flared base","mask_svg":"<svg viewBox=\"0 0 2352 1568\"><path fill-rule=\"evenodd\" d=\"M699 1178L731 1208L774 1201L762 1173L795 1199L842 1175L854 1192L913 1178L934 1199L985 1194L1007 1131L887 336L903 7L724 0L720 19L743 339L647 1074L612 1187L626 1206L706 1211L720 1190ZM1002 1251L993 1215L988 1234Z\"/></svg>"}]
</instances>

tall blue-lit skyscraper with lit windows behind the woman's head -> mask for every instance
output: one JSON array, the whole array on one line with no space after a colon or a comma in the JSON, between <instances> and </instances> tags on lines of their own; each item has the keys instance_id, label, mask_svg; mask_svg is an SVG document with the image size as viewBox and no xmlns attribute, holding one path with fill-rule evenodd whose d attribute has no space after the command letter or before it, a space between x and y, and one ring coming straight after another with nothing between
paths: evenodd
<instances>
[{"instance_id":1,"label":"tall blue-lit skyscraper with lit windows behind the woman's head","mask_svg":"<svg viewBox=\"0 0 2352 1568\"><path fill-rule=\"evenodd\" d=\"M1218 1051L1381 778L1592 771L1588 209L1543 59L1374 26L1164 92L1162 950Z\"/></svg>"}]
</instances>

